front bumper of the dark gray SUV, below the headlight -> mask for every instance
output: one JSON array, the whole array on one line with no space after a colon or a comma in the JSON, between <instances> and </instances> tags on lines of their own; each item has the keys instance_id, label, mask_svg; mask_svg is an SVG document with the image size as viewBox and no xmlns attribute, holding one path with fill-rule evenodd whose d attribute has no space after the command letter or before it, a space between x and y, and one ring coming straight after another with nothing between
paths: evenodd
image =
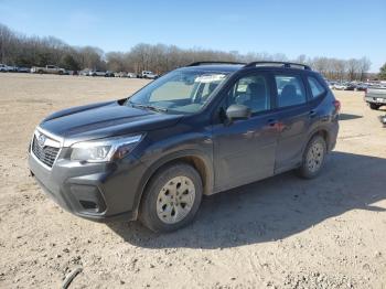
<instances>
[{"instance_id":1,"label":"front bumper of the dark gray SUV, below the headlight","mask_svg":"<svg viewBox=\"0 0 386 289\"><path fill-rule=\"evenodd\" d=\"M132 156L119 163L79 163L58 158L49 169L30 153L29 167L43 191L77 216L94 221L137 218L146 167Z\"/></svg>"}]
</instances>

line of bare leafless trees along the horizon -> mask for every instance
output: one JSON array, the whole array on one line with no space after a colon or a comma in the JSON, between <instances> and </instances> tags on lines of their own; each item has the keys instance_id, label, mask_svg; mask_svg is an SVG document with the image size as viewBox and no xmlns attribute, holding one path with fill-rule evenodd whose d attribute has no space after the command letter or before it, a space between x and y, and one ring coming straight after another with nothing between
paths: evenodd
<instances>
[{"instance_id":1,"label":"line of bare leafless trees along the horizon","mask_svg":"<svg viewBox=\"0 0 386 289\"><path fill-rule=\"evenodd\" d=\"M72 46L54 36L39 38L17 33L0 23L0 63L18 66L45 66L53 64L69 71L109 69L114 72L152 71L163 74L197 61L293 61L310 65L329 79L358 79L368 77L371 61L367 57L340 60L308 57L294 60L285 54L224 52L203 49L180 49L175 45L135 45L128 52L108 52L94 46Z\"/></svg>"}]
</instances>

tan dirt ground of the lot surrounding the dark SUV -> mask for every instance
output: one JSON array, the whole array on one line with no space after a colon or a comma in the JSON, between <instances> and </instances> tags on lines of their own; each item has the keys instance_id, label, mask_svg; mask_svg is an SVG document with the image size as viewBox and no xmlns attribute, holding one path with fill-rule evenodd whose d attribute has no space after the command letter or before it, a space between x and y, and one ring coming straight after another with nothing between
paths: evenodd
<instances>
[{"instance_id":1,"label":"tan dirt ground of the lot surrounding the dark SUV","mask_svg":"<svg viewBox=\"0 0 386 289\"><path fill-rule=\"evenodd\" d=\"M320 178L293 173L205 197L196 222L157 235L64 212L29 176L47 114L121 98L146 81L0 74L0 288L386 288L386 128L363 93Z\"/></svg>"}]
</instances>

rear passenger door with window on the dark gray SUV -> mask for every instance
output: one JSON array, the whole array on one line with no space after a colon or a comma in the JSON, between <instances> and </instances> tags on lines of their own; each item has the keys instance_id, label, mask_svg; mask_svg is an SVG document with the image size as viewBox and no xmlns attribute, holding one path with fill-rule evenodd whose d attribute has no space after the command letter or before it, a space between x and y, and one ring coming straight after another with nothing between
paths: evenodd
<instances>
[{"instance_id":1,"label":"rear passenger door with window on the dark gray SUV","mask_svg":"<svg viewBox=\"0 0 386 289\"><path fill-rule=\"evenodd\" d=\"M275 73L274 79L280 124L275 173L279 173L300 163L312 111L308 105L307 89L300 74Z\"/></svg>"}]
</instances>

